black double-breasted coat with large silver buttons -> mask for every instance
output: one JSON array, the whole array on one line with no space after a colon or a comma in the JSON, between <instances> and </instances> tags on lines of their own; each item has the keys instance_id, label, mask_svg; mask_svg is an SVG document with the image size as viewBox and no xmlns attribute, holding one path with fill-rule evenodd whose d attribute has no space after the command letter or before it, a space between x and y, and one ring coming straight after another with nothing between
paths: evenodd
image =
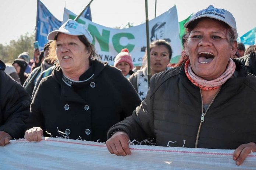
<instances>
[{"instance_id":1,"label":"black double-breasted coat with large silver buttons","mask_svg":"<svg viewBox=\"0 0 256 170\"><path fill-rule=\"evenodd\" d=\"M39 126L52 137L64 132L71 139L106 141L107 130L131 115L141 100L120 70L97 60L92 63L81 77L92 72L93 79L72 87L63 82L60 67L42 79L31 104L27 129Z\"/></svg>"}]
</instances>

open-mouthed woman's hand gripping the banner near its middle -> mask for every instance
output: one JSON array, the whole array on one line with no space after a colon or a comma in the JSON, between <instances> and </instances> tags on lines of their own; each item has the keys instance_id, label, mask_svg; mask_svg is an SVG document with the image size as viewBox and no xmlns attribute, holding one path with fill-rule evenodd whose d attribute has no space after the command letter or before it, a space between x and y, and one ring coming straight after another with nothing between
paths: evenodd
<instances>
[{"instance_id":1,"label":"open-mouthed woman's hand gripping the banner near its middle","mask_svg":"<svg viewBox=\"0 0 256 170\"><path fill-rule=\"evenodd\" d=\"M106 141L107 149L117 156L131 155L128 146L129 136L125 132L116 132Z\"/></svg>"}]
</instances>

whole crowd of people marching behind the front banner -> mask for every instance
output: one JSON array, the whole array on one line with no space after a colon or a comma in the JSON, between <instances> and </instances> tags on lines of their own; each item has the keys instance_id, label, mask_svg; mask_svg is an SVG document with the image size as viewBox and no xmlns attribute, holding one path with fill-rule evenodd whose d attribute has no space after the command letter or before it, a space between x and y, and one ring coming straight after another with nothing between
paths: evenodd
<instances>
[{"instance_id":1,"label":"whole crowd of people marching behind the front banner","mask_svg":"<svg viewBox=\"0 0 256 170\"><path fill-rule=\"evenodd\" d=\"M232 14L212 5L184 27L175 65L170 43L155 40L141 68L128 49L110 66L71 19L49 33L34 61L27 52L12 64L0 60L0 145L63 137L106 142L111 154L126 156L130 140L152 139L157 146L235 149L241 165L256 152L256 46L238 43Z\"/></svg>"}]
</instances>

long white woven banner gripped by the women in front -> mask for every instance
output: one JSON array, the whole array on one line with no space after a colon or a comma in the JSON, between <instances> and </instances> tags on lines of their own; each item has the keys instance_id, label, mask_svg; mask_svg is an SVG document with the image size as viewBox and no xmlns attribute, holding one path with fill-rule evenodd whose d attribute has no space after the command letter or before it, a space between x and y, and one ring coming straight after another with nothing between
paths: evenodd
<instances>
[{"instance_id":1,"label":"long white woven banner gripped by the women in front","mask_svg":"<svg viewBox=\"0 0 256 170\"><path fill-rule=\"evenodd\" d=\"M110 154L106 144L43 137L40 142L11 140L1 147L1 170L252 170L256 153L241 166L232 159L234 150L129 145L132 154Z\"/></svg>"}]
</instances>

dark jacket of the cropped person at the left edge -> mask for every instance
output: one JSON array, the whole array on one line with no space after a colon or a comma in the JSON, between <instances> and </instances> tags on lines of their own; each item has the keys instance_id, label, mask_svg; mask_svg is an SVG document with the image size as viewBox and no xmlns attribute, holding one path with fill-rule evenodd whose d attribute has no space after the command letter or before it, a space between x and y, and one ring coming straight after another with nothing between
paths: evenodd
<instances>
[{"instance_id":1,"label":"dark jacket of the cropped person at the left edge","mask_svg":"<svg viewBox=\"0 0 256 170\"><path fill-rule=\"evenodd\" d=\"M0 131L17 139L24 137L31 99L18 82L4 73L4 68L0 60Z\"/></svg>"}]
</instances>

